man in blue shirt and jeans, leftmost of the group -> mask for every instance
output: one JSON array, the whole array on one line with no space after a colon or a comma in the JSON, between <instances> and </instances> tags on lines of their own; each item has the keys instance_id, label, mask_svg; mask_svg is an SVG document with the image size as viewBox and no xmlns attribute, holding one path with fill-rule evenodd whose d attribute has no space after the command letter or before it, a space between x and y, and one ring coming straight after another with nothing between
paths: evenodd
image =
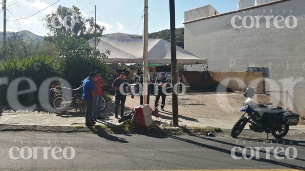
<instances>
[{"instance_id":1,"label":"man in blue shirt and jeans, leftmost of the group","mask_svg":"<svg viewBox=\"0 0 305 171\"><path fill-rule=\"evenodd\" d=\"M85 111L85 118L86 118L86 126L95 125L95 121L93 120L92 113L93 113L93 106L94 100L96 97L95 92L95 80L98 77L94 72L89 74L89 77L83 81L83 99L86 104L86 111Z\"/></svg>"}]
</instances>

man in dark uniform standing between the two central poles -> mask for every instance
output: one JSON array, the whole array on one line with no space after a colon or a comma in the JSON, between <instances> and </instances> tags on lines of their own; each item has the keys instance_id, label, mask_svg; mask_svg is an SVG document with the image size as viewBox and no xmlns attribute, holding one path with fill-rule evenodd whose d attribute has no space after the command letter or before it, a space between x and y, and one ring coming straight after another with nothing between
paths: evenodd
<instances>
[{"instance_id":1,"label":"man in dark uniform standing between the two central poles","mask_svg":"<svg viewBox=\"0 0 305 171\"><path fill-rule=\"evenodd\" d=\"M168 80L165 77L165 73L161 73L160 78L157 78L155 83L158 83L158 95L156 95L155 108L158 106L158 102L161 96L162 97L161 111L164 111L166 95L163 93L162 87L165 87L167 85L166 83L168 83Z\"/></svg>"}]
</instances>

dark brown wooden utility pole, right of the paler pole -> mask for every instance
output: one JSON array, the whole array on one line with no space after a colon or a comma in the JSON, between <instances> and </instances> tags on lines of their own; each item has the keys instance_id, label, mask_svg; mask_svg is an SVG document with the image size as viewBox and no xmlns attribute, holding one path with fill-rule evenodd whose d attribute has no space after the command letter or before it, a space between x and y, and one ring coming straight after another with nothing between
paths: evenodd
<instances>
[{"instance_id":1,"label":"dark brown wooden utility pole, right of the paler pole","mask_svg":"<svg viewBox=\"0 0 305 171\"><path fill-rule=\"evenodd\" d=\"M176 28L175 28L175 0L169 0L169 17L170 17L170 50L171 50L171 73L172 85L177 84L177 57L176 57ZM173 111L173 125L178 126L178 95L174 92L172 87L172 111Z\"/></svg>"}]
</instances>

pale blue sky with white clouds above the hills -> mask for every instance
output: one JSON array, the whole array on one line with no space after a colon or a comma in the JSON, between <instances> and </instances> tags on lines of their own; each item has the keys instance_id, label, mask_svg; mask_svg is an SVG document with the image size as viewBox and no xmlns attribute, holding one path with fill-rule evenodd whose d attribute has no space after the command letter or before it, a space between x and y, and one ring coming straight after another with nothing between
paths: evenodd
<instances>
[{"instance_id":1,"label":"pale blue sky with white clouds above the hills","mask_svg":"<svg viewBox=\"0 0 305 171\"><path fill-rule=\"evenodd\" d=\"M144 0L57 1L58 0L7 0L7 31L29 30L36 35L45 36L48 30L45 28L42 19L47 14L55 11L59 5L64 7L76 6L86 18L95 17L94 6L96 5L97 23L106 27L104 34L123 32L133 35L136 33L142 35ZM57 3L52 5L55 2ZM184 27L182 23L184 22L185 11L205 5L212 5L220 13L225 13L235 11L237 2L238 0L175 0L176 28ZM32 17L20 19L33 14L35 15ZM3 10L0 10L0 18L0 31L3 31ZM14 19L20 20L10 21ZM169 29L169 21L169 1L148 0L148 32L151 33Z\"/></svg>"}]
</instances>

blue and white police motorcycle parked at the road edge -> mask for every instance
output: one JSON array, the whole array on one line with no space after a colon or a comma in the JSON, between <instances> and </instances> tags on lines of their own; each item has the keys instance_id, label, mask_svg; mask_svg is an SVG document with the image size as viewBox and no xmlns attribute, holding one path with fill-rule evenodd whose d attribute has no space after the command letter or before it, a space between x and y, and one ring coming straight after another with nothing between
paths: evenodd
<instances>
[{"instance_id":1,"label":"blue and white police motorcycle parked at the road edge","mask_svg":"<svg viewBox=\"0 0 305 171\"><path fill-rule=\"evenodd\" d=\"M267 139L270 132L276 139L283 138L288 133L289 126L298 124L299 115L289 109L271 105L272 103L253 104L253 101L248 98L240 108L243 114L233 126L231 136L236 138L249 122L251 130L261 133L266 132ZM246 114L248 117L245 117Z\"/></svg>"}]
</instances>

